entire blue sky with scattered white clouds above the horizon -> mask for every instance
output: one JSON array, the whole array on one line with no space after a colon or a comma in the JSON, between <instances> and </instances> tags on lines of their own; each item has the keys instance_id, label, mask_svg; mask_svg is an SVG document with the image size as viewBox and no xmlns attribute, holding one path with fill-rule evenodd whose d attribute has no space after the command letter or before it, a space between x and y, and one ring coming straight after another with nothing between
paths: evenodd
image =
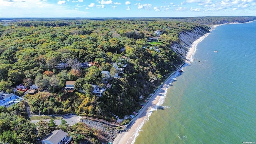
<instances>
[{"instance_id":1,"label":"entire blue sky with scattered white clouds above the horizon","mask_svg":"<svg viewBox=\"0 0 256 144\"><path fill-rule=\"evenodd\" d=\"M0 18L256 16L256 0L0 0Z\"/></svg>"}]
</instances>

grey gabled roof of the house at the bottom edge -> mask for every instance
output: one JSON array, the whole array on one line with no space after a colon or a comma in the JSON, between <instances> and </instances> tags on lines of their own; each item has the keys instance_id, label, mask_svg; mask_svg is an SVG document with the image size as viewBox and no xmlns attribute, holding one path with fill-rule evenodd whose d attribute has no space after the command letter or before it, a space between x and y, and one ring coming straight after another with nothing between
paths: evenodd
<instances>
[{"instance_id":1,"label":"grey gabled roof of the house at the bottom edge","mask_svg":"<svg viewBox=\"0 0 256 144\"><path fill-rule=\"evenodd\" d=\"M67 135L68 134L62 130L54 130L43 141L48 140L53 144L58 144L58 142Z\"/></svg>"}]
</instances>

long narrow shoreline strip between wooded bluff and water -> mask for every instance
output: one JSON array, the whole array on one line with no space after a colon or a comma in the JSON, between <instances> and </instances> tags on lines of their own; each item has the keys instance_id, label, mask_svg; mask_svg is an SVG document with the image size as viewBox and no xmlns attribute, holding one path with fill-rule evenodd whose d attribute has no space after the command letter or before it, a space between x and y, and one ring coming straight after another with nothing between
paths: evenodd
<instances>
[{"instance_id":1,"label":"long narrow shoreline strip between wooded bluff and water","mask_svg":"<svg viewBox=\"0 0 256 144\"><path fill-rule=\"evenodd\" d=\"M220 25L214 25L210 29L210 32L212 30L214 30L217 26L220 26ZM177 74L178 70L182 69L188 63L193 62L192 56L196 52L197 44L202 42L202 40L204 40L204 38L206 38L210 34L210 32L204 34L203 36L201 36L200 38L195 40L190 45L189 51L186 54L185 62L183 64L181 64L180 67L177 68L176 71L173 72L164 81L164 83L162 85L159 86L159 88L158 88L158 90L156 90L156 93L154 94L154 96L152 96L152 98L150 99L148 104L146 104L144 106L145 108L138 114L138 117L136 118L136 120L134 120L134 122L132 123L132 126L130 128L128 128L128 131L118 134L118 136L114 139L113 144L134 144L136 137L139 135L139 132L140 132L142 126L144 125L144 123L146 121L149 120L149 117L152 114L152 111L156 110L156 106L160 106L164 103L166 91L167 91L168 87L170 86L170 83L173 81L173 78L178 76L178 74Z\"/></svg>"}]
</instances>

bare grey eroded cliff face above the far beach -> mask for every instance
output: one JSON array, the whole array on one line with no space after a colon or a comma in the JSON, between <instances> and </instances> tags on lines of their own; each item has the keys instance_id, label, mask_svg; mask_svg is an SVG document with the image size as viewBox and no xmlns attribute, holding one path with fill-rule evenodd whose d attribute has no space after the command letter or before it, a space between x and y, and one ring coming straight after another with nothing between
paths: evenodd
<instances>
[{"instance_id":1,"label":"bare grey eroded cliff face above the far beach","mask_svg":"<svg viewBox=\"0 0 256 144\"><path fill-rule=\"evenodd\" d=\"M171 49L178 54L182 59L186 59L186 54L190 48L190 45L209 32L209 30L203 27L196 27L192 31L183 31L179 34L179 42L174 42L171 46Z\"/></svg>"}]
</instances>

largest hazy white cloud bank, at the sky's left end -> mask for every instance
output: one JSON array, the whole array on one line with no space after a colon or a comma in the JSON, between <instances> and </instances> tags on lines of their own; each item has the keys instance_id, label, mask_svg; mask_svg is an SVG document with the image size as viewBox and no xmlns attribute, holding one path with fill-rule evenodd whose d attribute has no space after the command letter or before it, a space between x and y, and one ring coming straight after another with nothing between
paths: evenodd
<instances>
[{"instance_id":1,"label":"largest hazy white cloud bank, at the sky's left end","mask_svg":"<svg viewBox=\"0 0 256 144\"><path fill-rule=\"evenodd\" d=\"M84 17L88 16L88 12L84 10L76 10L76 7L68 8L66 6L60 6L59 4L66 4L67 0L13 0L14 2L6 2L0 0L1 18L2 17ZM61 1L61 2L59 2ZM63 2L65 1L65 3ZM6 3L10 6L5 6ZM58 4L59 2L59 4ZM71 2L71 0L70 0ZM24 5L26 4L26 5ZM4 6L3 6L4 5Z\"/></svg>"}]
</instances>

